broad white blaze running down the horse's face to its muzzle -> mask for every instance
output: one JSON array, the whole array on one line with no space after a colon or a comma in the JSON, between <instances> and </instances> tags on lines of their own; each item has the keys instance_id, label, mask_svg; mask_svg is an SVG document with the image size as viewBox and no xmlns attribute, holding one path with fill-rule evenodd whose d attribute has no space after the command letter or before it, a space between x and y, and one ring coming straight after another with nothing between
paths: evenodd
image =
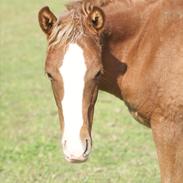
<instances>
[{"instance_id":1,"label":"broad white blaze running down the horse's face to its muzzle","mask_svg":"<svg viewBox=\"0 0 183 183\"><path fill-rule=\"evenodd\" d=\"M66 141L64 153L81 156L85 150L80 139L83 125L82 100L86 65L83 50L77 44L70 44L60 67L63 79L64 96L62 110L64 117L64 133L62 143Z\"/></svg>"}]
</instances>

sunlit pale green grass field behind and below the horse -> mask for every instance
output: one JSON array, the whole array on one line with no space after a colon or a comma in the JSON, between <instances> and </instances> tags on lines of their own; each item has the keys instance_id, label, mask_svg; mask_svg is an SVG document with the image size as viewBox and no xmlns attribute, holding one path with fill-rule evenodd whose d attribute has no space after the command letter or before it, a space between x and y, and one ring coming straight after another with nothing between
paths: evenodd
<instances>
[{"instance_id":1,"label":"sunlit pale green grass field behind and below the horse","mask_svg":"<svg viewBox=\"0 0 183 183\"><path fill-rule=\"evenodd\" d=\"M0 0L0 182L159 182L151 130L102 92L89 161L73 165L64 160L57 109L43 69L46 39L37 21L42 6L50 5L59 15L63 4Z\"/></svg>"}]
</instances>

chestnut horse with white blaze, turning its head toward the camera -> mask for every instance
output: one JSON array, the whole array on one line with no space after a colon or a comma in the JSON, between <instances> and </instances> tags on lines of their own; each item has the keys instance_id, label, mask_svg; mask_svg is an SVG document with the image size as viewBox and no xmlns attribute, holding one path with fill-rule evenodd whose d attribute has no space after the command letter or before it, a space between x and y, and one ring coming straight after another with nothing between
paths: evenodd
<instances>
[{"instance_id":1,"label":"chestnut horse with white blaze, turning its head toward the camera","mask_svg":"<svg viewBox=\"0 0 183 183\"><path fill-rule=\"evenodd\" d=\"M152 129L161 182L182 183L183 1L79 0L58 18L43 7L38 19L65 159L88 159L103 90Z\"/></svg>"}]
</instances>

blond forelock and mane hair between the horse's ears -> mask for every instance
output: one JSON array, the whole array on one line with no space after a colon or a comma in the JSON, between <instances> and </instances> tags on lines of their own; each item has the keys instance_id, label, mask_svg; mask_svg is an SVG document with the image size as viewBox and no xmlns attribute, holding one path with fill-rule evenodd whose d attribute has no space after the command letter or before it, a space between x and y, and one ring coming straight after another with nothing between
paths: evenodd
<instances>
[{"instance_id":1,"label":"blond forelock and mane hair between the horse's ears","mask_svg":"<svg viewBox=\"0 0 183 183\"><path fill-rule=\"evenodd\" d=\"M79 0L66 5L67 12L61 16L48 38L49 47L58 43L68 44L76 42L85 35L86 17L93 6L105 6L112 0Z\"/></svg>"}]
</instances>

